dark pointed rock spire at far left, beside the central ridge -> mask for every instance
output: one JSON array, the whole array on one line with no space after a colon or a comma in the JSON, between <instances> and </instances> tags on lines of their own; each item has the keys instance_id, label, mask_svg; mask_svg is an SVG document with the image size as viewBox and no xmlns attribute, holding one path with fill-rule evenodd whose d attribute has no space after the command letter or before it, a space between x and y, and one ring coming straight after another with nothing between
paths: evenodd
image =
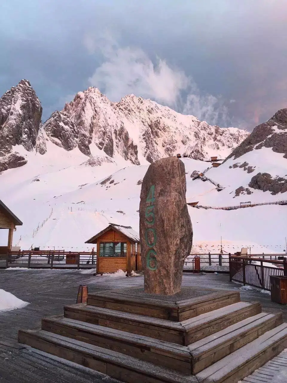
<instances>
[{"instance_id":1,"label":"dark pointed rock spire at far left, beside the central ridge","mask_svg":"<svg viewBox=\"0 0 287 383\"><path fill-rule=\"evenodd\" d=\"M12 153L15 145L32 151L41 117L42 106L29 81L21 80L16 87L7 90L0 98L0 158ZM4 162L8 169L24 165L26 162L20 157L16 155L2 159L2 167L5 166Z\"/></svg>"}]
</instances>

